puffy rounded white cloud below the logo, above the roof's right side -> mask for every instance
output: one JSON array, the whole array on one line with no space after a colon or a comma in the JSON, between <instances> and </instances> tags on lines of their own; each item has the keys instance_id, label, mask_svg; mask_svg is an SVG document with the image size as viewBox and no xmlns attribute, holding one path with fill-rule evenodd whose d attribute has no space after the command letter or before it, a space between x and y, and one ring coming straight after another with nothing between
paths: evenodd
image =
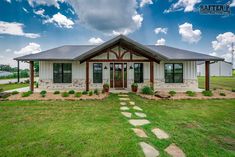
<instances>
[{"instance_id":1,"label":"puffy rounded white cloud below the logo, above the roof's right side","mask_svg":"<svg viewBox=\"0 0 235 157\"><path fill-rule=\"evenodd\" d=\"M179 25L179 34L182 40L188 43L197 43L201 39L201 31L199 29L193 30L193 25L184 23Z\"/></svg>"}]
</instances>

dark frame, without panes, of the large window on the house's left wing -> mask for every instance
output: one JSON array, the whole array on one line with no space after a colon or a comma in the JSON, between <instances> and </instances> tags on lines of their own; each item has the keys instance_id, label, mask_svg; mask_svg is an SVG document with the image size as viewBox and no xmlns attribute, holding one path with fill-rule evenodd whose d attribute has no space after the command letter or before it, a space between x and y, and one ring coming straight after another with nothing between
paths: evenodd
<instances>
[{"instance_id":1,"label":"dark frame, without panes, of the large window on the house's left wing","mask_svg":"<svg viewBox=\"0 0 235 157\"><path fill-rule=\"evenodd\" d=\"M57 74L57 75L61 75L60 76L61 78L59 79L60 81L55 79L56 77L58 77L58 76L55 76L56 75L55 74L55 65L56 64L59 64L61 66L61 72ZM65 82L65 80L67 80L67 79L64 78L65 75L68 75L68 74L65 74L65 72L64 72L64 67L66 64L71 66L70 73L68 73L70 76L70 79L68 82ZM72 68L73 68L72 63L53 63L53 83L72 83L72 73L73 73Z\"/></svg>"}]
</instances>

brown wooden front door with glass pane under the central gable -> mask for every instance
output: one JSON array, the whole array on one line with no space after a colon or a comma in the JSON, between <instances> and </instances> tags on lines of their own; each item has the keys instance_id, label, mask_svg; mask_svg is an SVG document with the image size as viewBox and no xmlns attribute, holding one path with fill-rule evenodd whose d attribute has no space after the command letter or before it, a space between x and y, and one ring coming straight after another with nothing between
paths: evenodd
<instances>
[{"instance_id":1,"label":"brown wooden front door with glass pane under the central gable","mask_svg":"<svg viewBox=\"0 0 235 157\"><path fill-rule=\"evenodd\" d=\"M114 63L114 87L123 88L123 64Z\"/></svg>"}]
</instances>

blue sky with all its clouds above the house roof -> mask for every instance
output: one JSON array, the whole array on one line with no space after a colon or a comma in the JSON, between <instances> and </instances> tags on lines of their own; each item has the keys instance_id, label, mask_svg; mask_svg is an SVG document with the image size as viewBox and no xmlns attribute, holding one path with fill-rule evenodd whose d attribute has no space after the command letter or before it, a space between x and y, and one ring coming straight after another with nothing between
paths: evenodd
<instances>
[{"instance_id":1,"label":"blue sky with all its clouds above the house roof","mask_svg":"<svg viewBox=\"0 0 235 157\"><path fill-rule=\"evenodd\" d=\"M214 4L225 4L217 0ZM224 57L235 42L231 14L202 15L211 0L0 0L0 64L61 45L101 44L124 34L142 44L160 44ZM26 67L24 64L23 67Z\"/></svg>"}]
</instances>

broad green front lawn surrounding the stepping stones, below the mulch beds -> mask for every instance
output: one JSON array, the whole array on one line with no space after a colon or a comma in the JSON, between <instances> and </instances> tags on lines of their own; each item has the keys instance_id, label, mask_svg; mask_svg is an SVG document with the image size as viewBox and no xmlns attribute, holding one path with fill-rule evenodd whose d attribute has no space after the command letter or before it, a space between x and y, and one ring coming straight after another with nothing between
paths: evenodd
<instances>
[{"instance_id":1,"label":"broad green front lawn surrounding the stepping stones, below the mulch beds","mask_svg":"<svg viewBox=\"0 0 235 157\"><path fill-rule=\"evenodd\" d=\"M235 100L154 101L130 94L162 157L176 143L187 156L235 156ZM143 156L117 95L99 101L0 102L0 156ZM131 110L131 112L133 112ZM157 140L159 127L171 136Z\"/></svg>"}]
</instances>

